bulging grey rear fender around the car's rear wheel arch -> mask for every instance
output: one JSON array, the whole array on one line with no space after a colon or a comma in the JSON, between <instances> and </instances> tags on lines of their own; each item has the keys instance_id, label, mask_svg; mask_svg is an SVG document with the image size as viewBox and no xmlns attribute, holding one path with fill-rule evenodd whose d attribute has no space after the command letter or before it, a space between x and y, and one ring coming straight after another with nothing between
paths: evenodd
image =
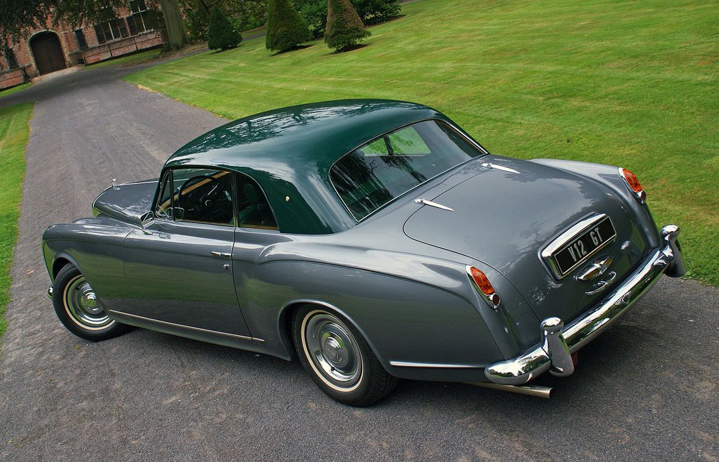
<instances>
[{"instance_id":1,"label":"bulging grey rear fender around the car's rear wheel arch","mask_svg":"<svg viewBox=\"0 0 719 462\"><path fill-rule=\"evenodd\" d=\"M276 353L285 358L294 354L288 310L306 303L346 318L388 370L392 361L437 363L447 355L477 368L503 358L472 303L428 284L327 263L275 261L258 266L245 287L241 306L252 335L283 345ZM272 306L278 309L270 318Z\"/></svg>"}]
</instances>

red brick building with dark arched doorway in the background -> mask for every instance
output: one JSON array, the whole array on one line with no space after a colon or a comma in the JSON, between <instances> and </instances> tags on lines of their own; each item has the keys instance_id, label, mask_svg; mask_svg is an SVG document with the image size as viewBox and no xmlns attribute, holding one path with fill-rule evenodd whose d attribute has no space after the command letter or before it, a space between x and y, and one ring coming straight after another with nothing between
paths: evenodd
<instances>
[{"instance_id":1,"label":"red brick building with dark arched doorway in the background","mask_svg":"<svg viewBox=\"0 0 719 462\"><path fill-rule=\"evenodd\" d=\"M72 29L60 22L37 27L0 53L0 89L73 65L97 63L164 42L161 14L145 0L130 1L129 11L109 11L106 21ZM2 52L2 50L0 50Z\"/></svg>"}]
</instances>

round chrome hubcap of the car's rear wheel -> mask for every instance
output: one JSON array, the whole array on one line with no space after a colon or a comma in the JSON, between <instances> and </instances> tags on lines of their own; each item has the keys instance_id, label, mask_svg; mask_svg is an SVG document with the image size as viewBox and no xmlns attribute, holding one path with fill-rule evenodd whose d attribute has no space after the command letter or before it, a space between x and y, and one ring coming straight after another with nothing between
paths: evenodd
<instances>
[{"instance_id":1,"label":"round chrome hubcap of the car's rear wheel","mask_svg":"<svg viewBox=\"0 0 719 462\"><path fill-rule=\"evenodd\" d=\"M308 358L321 378L336 389L354 389L362 378L362 355L347 326L329 313L316 312L305 318L303 334Z\"/></svg>"}]
</instances>

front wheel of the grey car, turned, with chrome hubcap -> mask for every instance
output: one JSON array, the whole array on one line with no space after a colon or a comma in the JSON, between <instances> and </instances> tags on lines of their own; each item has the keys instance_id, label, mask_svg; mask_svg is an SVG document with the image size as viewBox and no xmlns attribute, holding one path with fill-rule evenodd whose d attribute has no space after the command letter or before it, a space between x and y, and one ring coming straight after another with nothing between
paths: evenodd
<instances>
[{"instance_id":1,"label":"front wheel of the grey car, turned, with chrome hubcap","mask_svg":"<svg viewBox=\"0 0 719 462\"><path fill-rule=\"evenodd\" d=\"M129 326L110 319L83 273L72 263L63 266L52 289L55 314L78 337L107 340L129 330Z\"/></svg>"}]
</instances>

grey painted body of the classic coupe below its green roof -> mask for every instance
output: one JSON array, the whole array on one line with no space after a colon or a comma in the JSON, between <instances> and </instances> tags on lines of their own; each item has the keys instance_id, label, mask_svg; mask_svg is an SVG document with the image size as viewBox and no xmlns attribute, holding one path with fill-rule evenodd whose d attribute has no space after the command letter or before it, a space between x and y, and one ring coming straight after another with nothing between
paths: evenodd
<instances>
[{"instance_id":1,"label":"grey painted body of the classic coupe below its green roof","mask_svg":"<svg viewBox=\"0 0 719 462\"><path fill-rule=\"evenodd\" d=\"M384 131L424 119L449 121L426 107L412 110L399 122L394 113L380 120ZM357 125L362 128L362 121ZM350 142L367 142L382 132L375 130L355 134ZM198 142L188 146L197 151ZM198 158L211 158L207 152L213 149ZM351 148L338 149L336 159ZM242 157L237 159L236 171L272 196L273 184L253 173L260 167L245 168ZM196 162L192 165L220 165ZM226 162L221 167L228 168ZM262 173L267 172L271 168ZM615 284L661 245L649 209L612 166L487 153L360 222L342 207L331 184L311 178L303 183L296 185L293 200L303 199L304 205L324 198L318 214L334 215L323 220L330 232L173 222L150 212L157 181L111 187L93 203L95 217L45 231L48 273L54 280L60 268L73 263L119 322L288 360L296 354L293 309L317 304L352 323L394 376L485 381L485 367L541 343L541 320L571 321L608 295L587 296L587 283L553 276L540 255L551 240L580 219L607 214L617 237L597 255L613 258ZM467 266L487 275L502 299L498 309L475 289Z\"/></svg>"}]
</instances>

